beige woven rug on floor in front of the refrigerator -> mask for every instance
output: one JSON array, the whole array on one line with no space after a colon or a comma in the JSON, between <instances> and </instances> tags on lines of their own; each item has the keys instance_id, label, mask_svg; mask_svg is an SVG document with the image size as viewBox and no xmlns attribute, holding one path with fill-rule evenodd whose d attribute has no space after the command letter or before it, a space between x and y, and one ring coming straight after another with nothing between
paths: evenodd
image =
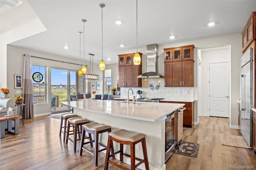
<instances>
[{"instance_id":1,"label":"beige woven rug on floor in front of the refrigerator","mask_svg":"<svg viewBox=\"0 0 256 170\"><path fill-rule=\"evenodd\" d=\"M236 136L231 134L221 134L220 133L220 143L226 146L235 146L239 148L250 149L244 140L243 136Z\"/></svg>"}]
</instances>

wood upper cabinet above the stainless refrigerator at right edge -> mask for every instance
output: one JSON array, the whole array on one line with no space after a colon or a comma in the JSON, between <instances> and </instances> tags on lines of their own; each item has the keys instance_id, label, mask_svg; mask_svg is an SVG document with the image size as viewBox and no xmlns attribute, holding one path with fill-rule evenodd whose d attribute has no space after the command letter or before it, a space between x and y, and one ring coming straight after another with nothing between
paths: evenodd
<instances>
[{"instance_id":1,"label":"wood upper cabinet above the stainless refrigerator at right edge","mask_svg":"<svg viewBox=\"0 0 256 170\"><path fill-rule=\"evenodd\" d=\"M243 52L251 44L252 40L256 38L256 12L252 12L247 21L244 30L242 31L242 47Z\"/></svg>"}]
</instances>

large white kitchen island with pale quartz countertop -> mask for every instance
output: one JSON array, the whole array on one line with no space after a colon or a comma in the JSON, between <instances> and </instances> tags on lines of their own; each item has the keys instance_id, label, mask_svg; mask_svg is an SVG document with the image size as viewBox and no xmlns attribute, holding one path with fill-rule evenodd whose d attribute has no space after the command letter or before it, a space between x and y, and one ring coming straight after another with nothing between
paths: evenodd
<instances>
[{"instance_id":1,"label":"large white kitchen island with pale quartz countertop","mask_svg":"<svg viewBox=\"0 0 256 170\"><path fill-rule=\"evenodd\" d=\"M184 104L176 103L126 103L111 100L84 100L62 102L72 107L74 113L98 122L110 125L113 130L120 128L146 134L146 145L150 170L165 170L165 119L166 115L181 108ZM102 134L100 142L107 144L107 134ZM141 144L140 144L141 145ZM141 146L136 147L136 157L143 158ZM114 143L117 150L119 144ZM130 147L124 146L124 152L130 154ZM119 155L116 156L119 159ZM130 159L124 157L124 162L130 164ZM144 164L138 166L145 169Z\"/></svg>"}]
</instances>

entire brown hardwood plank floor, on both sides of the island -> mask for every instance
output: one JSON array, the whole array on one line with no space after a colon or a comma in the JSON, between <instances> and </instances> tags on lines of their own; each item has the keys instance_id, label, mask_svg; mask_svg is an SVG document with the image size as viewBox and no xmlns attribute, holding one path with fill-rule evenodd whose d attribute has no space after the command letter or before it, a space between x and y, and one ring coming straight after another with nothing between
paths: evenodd
<instances>
[{"instance_id":1,"label":"entire brown hardwood plank floor, on both sides of the island","mask_svg":"<svg viewBox=\"0 0 256 170\"><path fill-rule=\"evenodd\" d=\"M74 153L72 142L67 145L62 142L58 137L59 126L60 119L47 116L26 119L24 127L20 121L20 134L6 134L5 138L0 139L0 169L102 170L105 154L99 154L98 166L95 167L94 156L86 152L79 156L78 151ZM233 164L256 167L253 150L222 146L219 133L241 135L240 130L229 128L227 118L200 117L198 126L184 128L183 133L184 141L200 144L198 157L173 154L166 169L226 170ZM124 165L129 168L129 165ZM111 165L109 169L118 170Z\"/></svg>"}]
</instances>

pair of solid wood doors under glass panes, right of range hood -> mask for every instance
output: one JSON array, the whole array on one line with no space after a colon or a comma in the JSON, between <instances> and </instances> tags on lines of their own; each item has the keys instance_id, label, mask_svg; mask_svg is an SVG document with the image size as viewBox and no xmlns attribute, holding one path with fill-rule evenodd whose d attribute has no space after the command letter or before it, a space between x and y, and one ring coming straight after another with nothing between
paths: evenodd
<instances>
[{"instance_id":1,"label":"pair of solid wood doors under glass panes, right of range hood","mask_svg":"<svg viewBox=\"0 0 256 170\"><path fill-rule=\"evenodd\" d=\"M172 87L194 86L194 61L172 62Z\"/></svg>"}]
</instances>

